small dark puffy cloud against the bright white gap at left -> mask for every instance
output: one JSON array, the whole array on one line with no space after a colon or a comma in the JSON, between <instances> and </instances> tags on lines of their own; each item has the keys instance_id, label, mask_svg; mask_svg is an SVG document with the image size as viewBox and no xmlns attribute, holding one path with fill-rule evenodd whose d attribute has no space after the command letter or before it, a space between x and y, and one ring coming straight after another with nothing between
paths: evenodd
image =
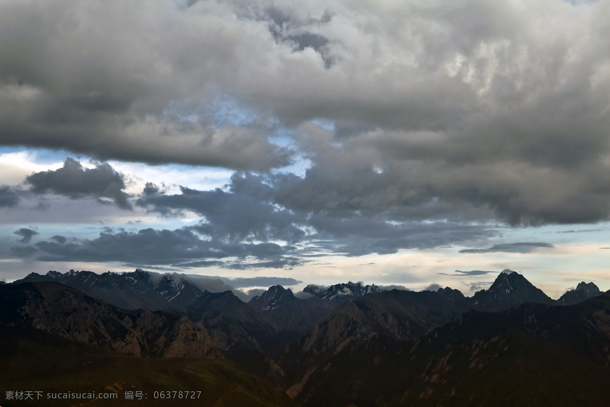
<instances>
[{"instance_id":1,"label":"small dark puffy cloud against the bright white gap at left","mask_svg":"<svg viewBox=\"0 0 610 407\"><path fill-rule=\"evenodd\" d=\"M57 170L41 171L26 177L30 191L56 193L76 200L82 198L110 198L121 209L132 209L127 201L129 195L123 192L123 175L110 164L96 164L95 168L84 168L81 163L68 157L63 167Z\"/></svg>"}]
</instances>

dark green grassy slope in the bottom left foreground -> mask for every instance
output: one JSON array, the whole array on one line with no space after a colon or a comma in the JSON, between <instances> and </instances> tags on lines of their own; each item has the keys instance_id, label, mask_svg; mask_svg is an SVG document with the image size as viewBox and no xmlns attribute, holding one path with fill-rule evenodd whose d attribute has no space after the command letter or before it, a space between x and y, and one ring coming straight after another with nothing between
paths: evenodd
<instances>
[{"instance_id":1,"label":"dark green grassy slope in the bottom left foreground","mask_svg":"<svg viewBox=\"0 0 610 407\"><path fill-rule=\"evenodd\" d=\"M6 391L117 392L118 400L5 400ZM201 391L198 400L154 391ZM146 400L125 400L143 391ZM290 406L287 397L234 362L129 358L36 330L0 328L0 406Z\"/></svg>"}]
</instances>

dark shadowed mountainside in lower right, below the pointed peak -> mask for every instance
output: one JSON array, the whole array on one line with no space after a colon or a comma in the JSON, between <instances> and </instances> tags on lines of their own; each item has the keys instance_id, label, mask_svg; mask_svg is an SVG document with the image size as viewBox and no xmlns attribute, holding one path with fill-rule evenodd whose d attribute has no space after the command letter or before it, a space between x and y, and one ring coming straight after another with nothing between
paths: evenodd
<instances>
[{"instance_id":1,"label":"dark shadowed mountainside in lower right, below the pointed peak","mask_svg":"<svg viewBox=\"0 0 610 407\"><path fill-rule=\"evenodd\" d=\"M606 406L610 293L471 310L411 342L372 337L308 373L292 394L303 406Z\"/></svg>"}]
</instances>

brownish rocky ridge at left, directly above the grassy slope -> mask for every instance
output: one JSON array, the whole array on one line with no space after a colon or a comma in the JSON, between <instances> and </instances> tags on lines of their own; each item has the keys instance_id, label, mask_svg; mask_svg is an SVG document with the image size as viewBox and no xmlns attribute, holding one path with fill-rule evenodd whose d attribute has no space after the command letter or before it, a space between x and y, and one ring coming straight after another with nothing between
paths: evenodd
<instances>
[{"instance_id":1,"label":"brownish rocky ridge at left, directly above the grassy slope","mask_svg":"<svg viewBox=\"0 0 610 407\"><path fill-rule=\"evenodd\" d=\"M131 356L220 356L205 328L186 317L151 311L127 314L54 282L2 286L0 323L59 334Z\"/></svg>"}]
</instances>

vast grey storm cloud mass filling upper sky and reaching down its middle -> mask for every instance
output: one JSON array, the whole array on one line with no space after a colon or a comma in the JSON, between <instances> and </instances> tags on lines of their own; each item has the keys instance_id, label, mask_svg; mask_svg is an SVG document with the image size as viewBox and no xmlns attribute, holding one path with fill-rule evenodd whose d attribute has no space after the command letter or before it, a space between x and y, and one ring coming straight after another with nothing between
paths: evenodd
<instances>
[{"instance_id":1,"label":"vast grey storm cloud mass filling upper sky and reaching down its middle","mask_svg":"<svg viewBox=\"0 0 610 407\"><path fill-rule=\"evenodd\" d=\"M190 232L217 253L274 240L297 248L273 256L395 253L470 245L498 222L594 223L610 218L609 13L562 1L5 1L0 140L246 171L229 190L147 184L138 200L204 217ZM221 117L225 99L251 118ZM303 177L270 171L295 157L310 162ZM114 191L98 196L120 205ZM15 206L3 193L0 206ZM225 261L201 245L171 264ZM260 263L276 261L288 262Z\"/></svg>"}]
</instances>

